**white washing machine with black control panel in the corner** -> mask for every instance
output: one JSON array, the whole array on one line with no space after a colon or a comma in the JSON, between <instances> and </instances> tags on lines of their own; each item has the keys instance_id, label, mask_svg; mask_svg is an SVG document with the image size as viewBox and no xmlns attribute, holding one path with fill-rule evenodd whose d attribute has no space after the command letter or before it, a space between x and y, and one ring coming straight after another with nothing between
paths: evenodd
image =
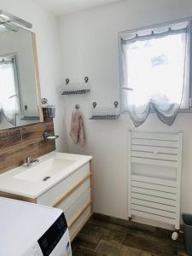
<instances>
[{"instance_id":1,"label":"white washing machine with black control panel in the corner","mask_svg":"<svg viewBox=\"0 0 192 256\"><path fill-rule=\"evenodd\" d=\"M0 255L72 256L64 213L0 197Z\"/></svg>"}]
</instances>

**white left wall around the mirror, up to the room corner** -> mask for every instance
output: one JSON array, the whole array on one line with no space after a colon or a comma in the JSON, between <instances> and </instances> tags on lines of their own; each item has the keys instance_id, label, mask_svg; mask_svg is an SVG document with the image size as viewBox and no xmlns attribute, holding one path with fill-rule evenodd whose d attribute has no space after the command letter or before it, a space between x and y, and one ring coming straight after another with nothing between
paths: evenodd
<instances>
[{"instance_id":1,"label":"white left wall around the mirror, up to the room corner","mask_svg":"<svg viewBox=\"0 0 192 256\"><path fill-rule=\"evenodd\" d=\"M38 44L38 64L42 97L56 104L55 133L60 135L57 149L67 150L65 141L64 116L61 106L61 44L58 19L31 0L0 0L0 9L32 22Z\"/></svg>"}]
</instances>

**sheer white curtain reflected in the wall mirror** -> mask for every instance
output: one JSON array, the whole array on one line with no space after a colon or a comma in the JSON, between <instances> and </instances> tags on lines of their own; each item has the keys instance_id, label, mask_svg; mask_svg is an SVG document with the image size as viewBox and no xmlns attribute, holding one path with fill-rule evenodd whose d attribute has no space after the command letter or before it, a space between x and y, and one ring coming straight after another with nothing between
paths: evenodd
<instances>
[{"instance_id":1,"label":"sheer white curtain reflected in the wall mirror","mask_svg":"<svg viewBox=\"0 0 192 256\"><path fill-rule=\"evenodd\" d=\"M0 90L0 114L9 123L16 125L17 95L14 63L12 61L0 62Z\"/></svg>"}]
</instances>

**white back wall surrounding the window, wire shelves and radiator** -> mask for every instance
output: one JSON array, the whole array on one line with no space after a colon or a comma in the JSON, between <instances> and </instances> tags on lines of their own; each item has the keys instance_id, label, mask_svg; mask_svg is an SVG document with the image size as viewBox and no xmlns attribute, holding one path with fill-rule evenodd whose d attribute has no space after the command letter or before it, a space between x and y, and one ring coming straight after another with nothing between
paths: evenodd
<instances>
[{"instance_id":1,"label":"white back wall surrounding the window, wire shelves and radiator","mask_svg":"<svg viewBox=\"0 0 192 256\"><path fill-rule=\"evenodd\" d=\"M119 101L118 32L192 16L191 0L130 0L90 9L61 19L63 76L81 81L90 77L88 96L65 96L67 134L76 103L84 114L87 143L84 148L68 137L69 152L92 154L94 210L119 218L126 216L127 131L133 128L128 114L118 120L89 120L91 103ZM183 131L182 211L192 213L192 113L179 113L171 127L151 114L143 131Z\"/></svg>"}]
</instances>

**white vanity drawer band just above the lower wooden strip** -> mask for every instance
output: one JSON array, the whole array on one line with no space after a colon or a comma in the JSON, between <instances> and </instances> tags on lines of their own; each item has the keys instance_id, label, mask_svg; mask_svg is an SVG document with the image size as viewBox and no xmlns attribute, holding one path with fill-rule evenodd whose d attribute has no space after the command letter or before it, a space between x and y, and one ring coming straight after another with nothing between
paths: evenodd
<instances>
[{"instance_id":1,"label":"white vanity drawer band just above the lower wooden strip","mask_svg":"<svg viewBox=\"0 0 192 256\"><path fill-rule=\"evenodd\" d=\"M79 195L79 198L77 199L77 201L75 201L73 205L69 207L65 212L67 224L69 227L73 223L73 219L79 216L79 212L82 212L84 210L84 207L87 207L89 203L90 203L90 188L86 189L82 195Z\"/></svg>"}]
</instances>

